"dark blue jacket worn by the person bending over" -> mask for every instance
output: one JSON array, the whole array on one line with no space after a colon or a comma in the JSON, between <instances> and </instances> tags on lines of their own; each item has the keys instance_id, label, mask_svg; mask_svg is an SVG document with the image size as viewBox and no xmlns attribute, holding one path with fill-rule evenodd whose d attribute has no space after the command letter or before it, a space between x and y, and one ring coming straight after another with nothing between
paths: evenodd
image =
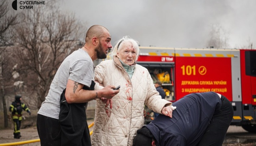
<instances>
[{"instance_id":1,"label":"dark blue jacket worn by the person bending over","mask_svg":"<svg viewBox=\"0 0 256 146\"><path fill-rule=\"evenodd\" d=\"M159 114L145 125L154 135L157 146L195 146L215 112L221 99L215 92L193 93L173 103L177 109L172 118ZM160 143L159 143L160 142Z\"/></svg>"}]
</instances>

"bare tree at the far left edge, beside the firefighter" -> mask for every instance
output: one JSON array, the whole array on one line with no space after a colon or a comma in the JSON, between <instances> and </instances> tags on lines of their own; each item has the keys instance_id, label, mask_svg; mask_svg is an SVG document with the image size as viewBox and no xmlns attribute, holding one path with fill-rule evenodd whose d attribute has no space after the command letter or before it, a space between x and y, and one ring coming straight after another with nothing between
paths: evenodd
<instances>
[{"instance_id":1,"label":"bare tree at the far left edge, beside the firefighter","mask_svg":"<svg viewBox=\"0 0 256 146\"><path fill-rule=\"evenodd\" d=\"M9 56L7 56L7 46L11 44L11 27L14 26L17 21L17 15L9 14L8 10L8 2L4 0L0 4L0 98L2 99L3 110L4 110L4 127L8 127L8 118L7 118L7 105L5 100L5 92L4 92L4 71L6 72L6 64Z\"/></svg>"}]
</instances>

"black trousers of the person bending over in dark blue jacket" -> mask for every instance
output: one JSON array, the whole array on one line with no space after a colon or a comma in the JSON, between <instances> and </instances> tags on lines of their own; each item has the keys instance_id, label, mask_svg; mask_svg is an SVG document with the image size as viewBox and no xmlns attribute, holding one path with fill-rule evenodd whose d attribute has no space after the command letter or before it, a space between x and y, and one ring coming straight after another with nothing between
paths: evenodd
<instances>
[{"instance_id":1,"label":"black trousers of the person bending over in dark blue jacket","mask_svg":"<svg viewBox=\"0 0 256 146\"><path fill-rule=\"evenodd\" d=\"M221 146L233 115L234 111L230 101L222 95L221 109L214 113L198 146Z\"/></svg>"}]
</instances>

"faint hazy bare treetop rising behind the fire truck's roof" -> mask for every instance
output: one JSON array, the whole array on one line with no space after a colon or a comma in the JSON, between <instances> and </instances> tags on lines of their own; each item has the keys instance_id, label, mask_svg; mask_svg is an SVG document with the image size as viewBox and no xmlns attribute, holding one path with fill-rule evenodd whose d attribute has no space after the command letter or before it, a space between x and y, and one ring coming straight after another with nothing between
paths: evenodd
<instances>
[{"instance_id":1,"label":"faint hazy bare treetop rising behind the fire truck's roof","mask_svg":"<svg viewBox=\"0 0 256 146\"><path fill-rule=\"evenodd\" d=\"M223 29L219 24L211 25L210 39L207 42L207 46L216 48L228 47L228 32Z\"/></svg>"}]
</instances>

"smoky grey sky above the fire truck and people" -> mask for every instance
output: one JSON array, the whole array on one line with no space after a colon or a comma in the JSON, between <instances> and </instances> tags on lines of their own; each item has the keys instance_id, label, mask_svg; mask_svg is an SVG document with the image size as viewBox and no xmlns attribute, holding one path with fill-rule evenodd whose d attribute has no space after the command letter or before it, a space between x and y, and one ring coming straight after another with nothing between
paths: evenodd
<instances>
[{"instance_id":1,"label":"smoky grey sky above the fire truck and people","mask_svg":"<svg viewBox=\"0 0 256 146\"><path fill-rule=\"evenodd\" d=\"M212 25L229 48L256 46L256 0L63 0L87 26L108 28L112 44L129 35L141 46L206 48Z\"/></svg>"}]
</instances>

